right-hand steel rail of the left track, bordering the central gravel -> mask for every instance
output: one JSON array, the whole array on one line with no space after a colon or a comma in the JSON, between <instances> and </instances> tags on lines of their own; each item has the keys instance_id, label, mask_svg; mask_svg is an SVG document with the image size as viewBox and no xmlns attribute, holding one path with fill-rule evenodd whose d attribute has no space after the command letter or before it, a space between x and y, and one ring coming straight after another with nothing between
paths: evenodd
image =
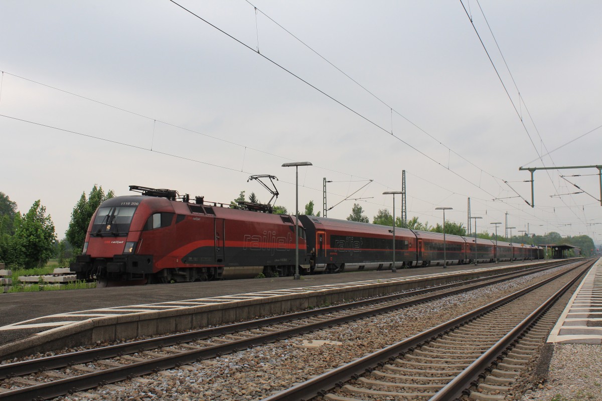
<instances>
[{"instance_id":1,"label":"right-hand steel rail of the left track, bordering the central gravel","mask_svg":"<svg viewBox=\"0 0 602 401\"><path fill-rule=\"evenodd\" d=\"M529 270L528 272L514 272L514 274L530 274L533 270ZM509 275L509 274L503 274ZM479 279L475 279L479 280ZM488 283L477 283L469 286L468 290L479 288L487 285L491 285L500 281L508 280L507 277L497 278L493 280L494 282ZM456 285L459 283L455 283ZM431 289L432 290L432 289ZM424 290L418 290L424 291ZM364 317L374 316L375 314L385 313L387 311L396 310L400 307L412 306L415 304L421 304L427 301L432 301L433 299L442 298L444 296L454 295L456 293L461 293L467 291L467 288L463 286L459 289L453 289L445 293L438 293L435 295L426 296L420 299L414 299L411 301L403 301L393 305L387 305L386 307L376 308L368 311L361 311L358 313L348 314L345 316L334 317L332 319L322 320L320 322L309 323L306 325L299 325L293 328L282 329L281 331L269 332L266 334L257 335L252 338L245 338L241 340L234 340L225 344L216 344L214 346L202 347L195 350L184 351L179 354L166 355L165 357L154 358L148 361L140 361L137 363L126 364L121 367L114 367L110 369L99 370L98 372L86 373L84 375L73 376L72 378L60 379L57 381L52 381L48 383L43 383L40 385L35 385L31 387L24 387L17 390L7 391L5 393L0 393L0 400L2 401L20 401L23 399L50 399L54 397L58 397L64 394L72 394L77 391L88 390L90 388L98 387L99 385L105 385L108 383L122 381L124 379L134 378L139 375L145 375L152 372L158 372L159 370L170 369L173 367L182 366L184 364L194 363L197 361L202 361L209 358L220 357L223 354L228 354L230 352L238 352L241 349L252 348L255 346L259 346L261 344L267 344L273 341L279 341L282 338L293 337L294 335L305 334L306 332L311 332L323 328L327 328L329 326L343 324L346 322L350 322L353 320L363 319ZM407 295L408 293L404 293L401 295ZM389 296L387 296L389 297ZM360 301L362 302L362 301ZM317 312L324 313L324 310L329 308L321 308L321 310L314 310ZM289 319L290 320L290 319ZM209 331L213 329L208 329ZM145 349L134 349L134 351L144 351ZM119 355L117 355L119 356ZM26 362L26 361L24 361ZM8 364L8 365L16 365ZM72 361L70 364L75 364L75 361ZM8 365L6 367L8 367ZM2 366L5 367L5 366ZM46 366L48 369L48 366ZM46 370L43 369L43 370Z\"/></svg>"}]
</instances>

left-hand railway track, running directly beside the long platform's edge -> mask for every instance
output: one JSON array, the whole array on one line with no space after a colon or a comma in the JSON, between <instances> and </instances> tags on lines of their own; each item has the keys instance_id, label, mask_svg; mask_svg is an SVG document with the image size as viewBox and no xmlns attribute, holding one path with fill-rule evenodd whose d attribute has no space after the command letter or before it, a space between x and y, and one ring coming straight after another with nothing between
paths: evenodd
<instances>
[{"instance_id":1,"label":"left-hand railway track, running directly beside the long platform's edge","mask_svg":"<svg viewBox=\"0 0 602 401\"><path fill-rule=\"evenodd\" d=\"M549 269L480 278L398 295L0 365L0 400L49 399Z\"/></svg>"}]
</instances>

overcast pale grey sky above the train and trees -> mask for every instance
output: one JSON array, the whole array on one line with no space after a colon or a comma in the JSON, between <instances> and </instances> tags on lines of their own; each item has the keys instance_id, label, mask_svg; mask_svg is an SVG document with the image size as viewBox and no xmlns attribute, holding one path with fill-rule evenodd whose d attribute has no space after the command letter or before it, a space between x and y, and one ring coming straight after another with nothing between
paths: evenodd
<instances>
[{"instance_id":1,"label":"overcast pale grey sky above the train and trees","mask_svg":"<svg viewBox=\"0 0 602 401\"><path fill-rule=\"evenodd\" d=\"M479 231L508 212L516 230L602 240L598 176L567 177L593 197L551 197L579 191L560 174L595 169L536 172L535 209L493 201L516 195L503 180L530 200L521 166L602 164L602 2L480 1L513 81L464 0L509 96L459 1L252 3L257 14L243 0L179 1L255 51L169 0L0 1L0 191L21 212L41 198L63 237L95 183L228 203L243 190L267 201L247 178L273 174L293 212L294 170L281 164L310 161L301 208L321 210L323 177L329 206L373 179L355 195L372 219L406 170L409 217L440 223L434 209L448 206L466 224L471 197Z\"/></svg>"}]
</instances>

